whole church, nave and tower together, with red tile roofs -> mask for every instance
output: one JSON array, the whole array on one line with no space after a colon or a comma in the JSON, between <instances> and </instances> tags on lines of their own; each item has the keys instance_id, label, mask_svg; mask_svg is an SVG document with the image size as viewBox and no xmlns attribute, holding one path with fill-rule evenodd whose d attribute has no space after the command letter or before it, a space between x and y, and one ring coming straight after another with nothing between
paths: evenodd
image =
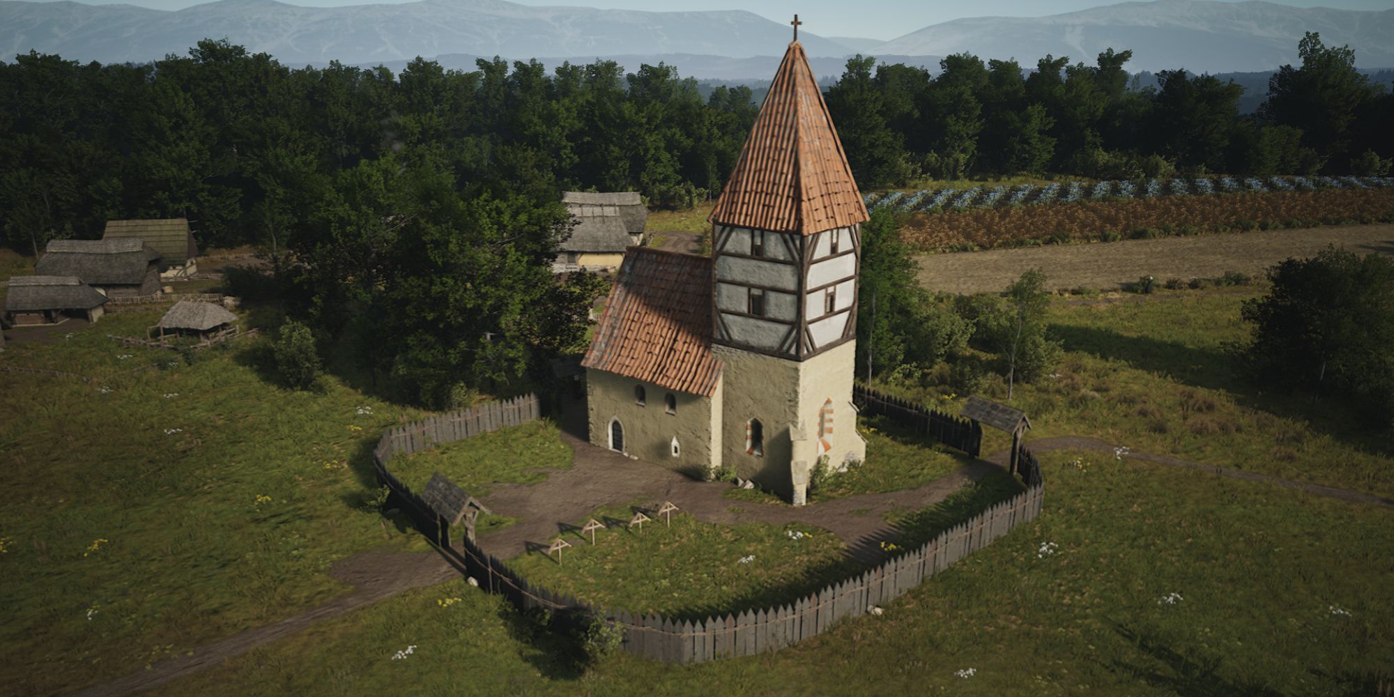
<instances>
[{"instance_id":1,"label":"whole church, nave and tower together, with red tile roofs","mask_svg":"<svg viewBox=\"0 0 1394 697\"><path fill-rule=\"evenodd\" d=\"M821 459L864 459L852 376L866 220L796 39L711 213L711 256L627 251L583 361L591 442L733 466L795 503Z\"/></svg>"}]
</instances>

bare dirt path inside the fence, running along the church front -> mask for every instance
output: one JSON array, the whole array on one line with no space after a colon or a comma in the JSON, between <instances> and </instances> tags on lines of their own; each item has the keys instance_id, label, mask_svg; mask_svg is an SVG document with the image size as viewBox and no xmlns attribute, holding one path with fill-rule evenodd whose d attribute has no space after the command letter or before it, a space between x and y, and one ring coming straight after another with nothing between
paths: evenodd
<instances>
[{"instance_id":1,"label":"bare dirt path inside the fence, running along the church front","mask_svg":"<svg viewBox=\"0 0 1394 697\"><path fill-rule=\"evenodd\" d=\"M859 560L880 556L881 539L894 539L895 528L882 516L891 510L921 509L944 500L969 481L977 481L1001 467L974 461L956 473L916 489L863 493L807 506L754 503L723 496L726 482L703 482L666 467L592 446L572 435L562 436L576 452L570 470L558 470L533 485L496 485L484 496L491 509L520 517L517 523L480 535L480 546L499 559L510 559L537 545L545 548L567 524L583 520L602 506L641 500L657 507L665 500L704 523L807 523L824 527L848 545Z\"/></svg>"}]
</instances>

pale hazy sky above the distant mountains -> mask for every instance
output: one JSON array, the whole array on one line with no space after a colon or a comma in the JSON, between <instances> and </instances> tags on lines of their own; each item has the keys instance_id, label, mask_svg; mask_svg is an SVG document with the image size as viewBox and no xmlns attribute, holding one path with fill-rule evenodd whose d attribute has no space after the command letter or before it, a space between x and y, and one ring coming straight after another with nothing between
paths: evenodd
<instances>
[{"instance_id":1,"label":"pale hazy sky above the distant mountains","mask_svg":"<svg viewBox=\"0 0 1394 697\"><path fill-rule=\"evenodd\" d=\"M180 10L199 0L86 0ZM284 0L283 0L284 1ZM289 4L335 7L347 4L408 3L417 0L290 0ZM463 0L468 1L468 0ZM1040 17L1115 4L1110 0L513 0L533 6L584 6L616 10L691 11L749 10L778 22L799 13L802 29L822 36L864 36L889 40L931 24L960 17ZM1235 0L1224 0L1235 1ZM1342 10L1390 10L1394 0L1273 0L1295 7L1337 7Z\"/></svg>"}]
</instances>

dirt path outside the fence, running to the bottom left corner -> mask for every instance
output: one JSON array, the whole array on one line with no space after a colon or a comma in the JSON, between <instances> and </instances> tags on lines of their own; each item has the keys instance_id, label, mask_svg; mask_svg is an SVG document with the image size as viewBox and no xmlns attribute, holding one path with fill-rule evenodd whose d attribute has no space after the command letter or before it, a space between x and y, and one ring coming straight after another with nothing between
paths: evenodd
<instances>
[{"instance_id":1,"label":"dirt path outside the fence, running to the bottom left corner","mask_svg":"<svg viewBox=\"0 0 1394 697\"><path fill-rule=\"evenodd\" d=\"M194 650L192 655L159 661L148 671L137 671L71 694L81 697L121 696L149 690L185 675L213 668L229 658L294 634L322 619L344 615L411 588L435 585L460 577L460 572L438 553L403 552L358 553L332 566L329 574L353 584L354 590L293 618L201 645Z\"/></svg>"}]
</instances>

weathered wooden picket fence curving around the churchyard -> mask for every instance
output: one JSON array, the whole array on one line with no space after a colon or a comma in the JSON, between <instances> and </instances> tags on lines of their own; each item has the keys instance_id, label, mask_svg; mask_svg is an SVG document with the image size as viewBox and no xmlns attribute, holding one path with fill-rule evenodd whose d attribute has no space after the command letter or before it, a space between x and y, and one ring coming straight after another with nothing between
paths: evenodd
<instances>
[{"instance_id":1,"label":"weathered wooden picket fence curving around the churchyard","mask_svg":"<svg viewBox=\"0 0 1394 697\"><path fill-rule=\"evenodd\" d=\"M884 403L912 414L928 411L923 407L921 411L914 411L891 400ZM421 496L388 471L392 457L397 453L420 452L434 443L519 425L539 415L538 397L528 395L390 428L374 450L378 481L389 488L393 502L411 516L420 530L441 539L439 516ZM977 438L981 439L980 429ZM471 539L461 539L459 546L442 551L450 555L464 574L474 579L481 588L506 597L520 609L541 606L585 612L620 627L625 634L620 645L630 654L665 664L700 664L776 651L827 631L848 618L864 615L899 598L926 579L983 549L1018 524L1034 520L1041 512L1044 485L1036 456L1025 447L1022 461L1025 464L1020 471L1027 484L1026 491L988 507L916 549L788 604L739 615L715 615L696 622L673 620L661 615L613 612L531 584Z\"/></svg>"}]
</instances>

